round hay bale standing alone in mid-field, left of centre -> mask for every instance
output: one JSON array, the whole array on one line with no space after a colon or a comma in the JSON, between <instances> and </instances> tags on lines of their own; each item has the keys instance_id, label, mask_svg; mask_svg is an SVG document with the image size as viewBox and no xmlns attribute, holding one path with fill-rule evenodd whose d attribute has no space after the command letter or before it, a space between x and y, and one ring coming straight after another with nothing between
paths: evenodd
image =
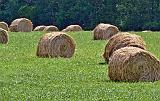
<instances>
[{"instance_id":1,"label":"round hay bale standing alone in mid-field, left of centre","mask_svg":"<svg viewBox=\"0 0 160 101\"><path fill-rule=\"evenodd\" d=\"M70 58L75 52L74 40L63 32L47 33L41 37L38 48L38 57Z\"/></svg>"}]
</instances>

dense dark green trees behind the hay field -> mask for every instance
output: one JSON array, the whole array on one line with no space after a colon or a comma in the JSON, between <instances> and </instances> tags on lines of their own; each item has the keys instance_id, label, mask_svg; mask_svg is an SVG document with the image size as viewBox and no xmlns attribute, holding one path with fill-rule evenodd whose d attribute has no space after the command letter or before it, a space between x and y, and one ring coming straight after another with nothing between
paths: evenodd
<instances>
[{"instance_id":1,"label":"dense dark green trees behind the hay field","mask_svg":"<svg viewBox=\"0 0 160 101\"><path fill-rule=\"evenodd\" d=\"M111 23L121 30L160 30L160 0L0 0L0 21L27 17L34 26L93 29Z\"/></svg>"}]
</instances>

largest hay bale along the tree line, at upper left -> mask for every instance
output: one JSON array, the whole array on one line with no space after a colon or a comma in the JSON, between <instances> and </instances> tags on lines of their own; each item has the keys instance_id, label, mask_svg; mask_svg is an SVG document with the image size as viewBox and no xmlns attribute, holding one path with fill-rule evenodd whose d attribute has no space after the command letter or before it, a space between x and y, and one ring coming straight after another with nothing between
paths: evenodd
<instances>
[{"instance_id":1,"label":"largest hay bale along the tree line, at upper left","mask_svg":"<svg viewBox=\"0 0 160 101\"><path fill-rule=\"evenodd\" d=\"M26 18L15 19L10 25L10 31L12 32L31 32L32 29L32 22Z\"/></svg>"}]
</instances>

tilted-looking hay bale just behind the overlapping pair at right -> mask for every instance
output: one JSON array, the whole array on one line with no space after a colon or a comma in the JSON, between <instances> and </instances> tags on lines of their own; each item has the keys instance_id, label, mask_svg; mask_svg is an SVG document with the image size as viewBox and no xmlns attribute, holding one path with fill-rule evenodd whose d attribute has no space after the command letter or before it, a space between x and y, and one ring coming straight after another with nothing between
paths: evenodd
<instances>
[{"instance_id":1,"label":"tilted-looking hay bale just behind the overlapping pair at right","mask_svg":"<svg viewBox=\"0 0 160 101\"><path fill-rule=\"evenodd\" d=\"M108 40L118 32L119 29L116 26L100 23L93 30L94 40Z\"/></svg>"}]
</instances>

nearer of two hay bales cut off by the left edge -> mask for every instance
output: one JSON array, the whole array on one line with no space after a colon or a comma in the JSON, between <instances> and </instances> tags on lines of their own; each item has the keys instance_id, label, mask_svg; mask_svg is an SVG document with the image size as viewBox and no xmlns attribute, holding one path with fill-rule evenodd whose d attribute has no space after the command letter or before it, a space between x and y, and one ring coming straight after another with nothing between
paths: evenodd
<instances>
[{"instance_id":1,"label":"nearer of two hay bales cut off by the left edge","mask_svg":"<svg viewBox=\"0 0 160 101\"><path fill-rule=\"evenodd\" d=\"M8 43L8 32L5 29L0 28L0 43Z\"/></svg>"}]
</instances>

